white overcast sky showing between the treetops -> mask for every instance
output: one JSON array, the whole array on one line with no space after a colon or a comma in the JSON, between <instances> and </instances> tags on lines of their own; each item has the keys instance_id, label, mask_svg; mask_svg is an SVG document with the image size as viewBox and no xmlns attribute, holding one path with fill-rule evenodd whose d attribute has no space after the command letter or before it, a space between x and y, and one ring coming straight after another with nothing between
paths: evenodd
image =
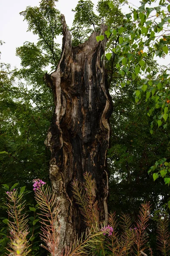
<instances>
[{"instance_id":1,"label":"white overcast sky showing between the treetops","mask_svg":"<svg viewBox=\"0 0 170 256\"><path fill-rule=\"evenodd\" d=\"M96 6L98 0L92 0ZM131 0L133 4L139 3L139 0ZM23 16L19 13L24 11L27 6L39 6L40 0L0 0L0 40L6 42L0 47L1 62L11 64L20 68L20 58L15 55L16 47L23 45L25 41L35 42L36 36L27 31L27 23L23 21ZM65 15L68 26L71 26L74 19L74 12L71 12L77 6L78 0L59 0L56 3L57 9ZM124 12L127 10L124 7ZM61 41L61 39L60 39Z\"/></svg>"}]
</instances>

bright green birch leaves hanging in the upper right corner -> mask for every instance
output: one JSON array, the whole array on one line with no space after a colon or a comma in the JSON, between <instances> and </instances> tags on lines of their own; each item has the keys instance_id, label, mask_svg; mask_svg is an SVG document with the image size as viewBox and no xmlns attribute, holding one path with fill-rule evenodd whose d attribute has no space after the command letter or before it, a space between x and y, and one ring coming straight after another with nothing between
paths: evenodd
<instances>
[{"instance_id":1,"label":"bright green birch leaves hanging in the upper right corner","mask_svg":"<svg viewBox=\"0 0 170 256\"><path fill-rule=\"evenodd\" d=\"M152 2L157 4L156 0ZM157 112L151 126L161 126L166 124L169 116L170 77L168 67L163 66L158 71L156 64L151 66L149 62L154 61L154 56L164 58L168 54L170 15L164 10L164 7L168 8L168 3L165 1L160 1L159 6L156 7L148 8L145 5L146 1L142 1L139 9L131 9L122 26L117 26L117 35L121 34L121 36L112 51L120 56L117 67L121 75L123 73L125 78L130 76L130 80L136 80L138 83L139 76L143 77L144 86L141 87L139 84L136 90L136 102L139 102L142 90L146 91L146 101L150 104L148 115L153 114L155 110ZM132 65L133 72L130 73ZM150 92L152 94L149 94ZM162 117L159 120L160 115Z\"/></svg>"}]
</instances>

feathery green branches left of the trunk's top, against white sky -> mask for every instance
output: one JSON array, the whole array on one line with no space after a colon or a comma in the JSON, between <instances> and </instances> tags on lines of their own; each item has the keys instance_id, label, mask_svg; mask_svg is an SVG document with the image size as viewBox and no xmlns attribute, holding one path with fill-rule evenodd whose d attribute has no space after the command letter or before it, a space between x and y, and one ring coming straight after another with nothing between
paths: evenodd
<instances>
[{"instance_id":1,"label":"feathery green branches left of the trunk's top, against white sky","mask_svg":"<svg viewBox=\"0 0 170 256\"><path fill-rule=\"evenodd\" d=\"M42 0L40 7L28 6L25 11L20 13L28 22L28 31L32 31L34 35L38 36L37 45L26 42L23 47L17 49L22 66L28 67L29 73L31 73L31 66L38 69L34 71L34 74L49 64L52 65L52 69L57 67L61 50L59 44L55 42L55 38L61 34L62 30L60 13L55 8L55 2L57 1ZM26 77L24 76L24 78Z\"/></svg>"}]
</instances>

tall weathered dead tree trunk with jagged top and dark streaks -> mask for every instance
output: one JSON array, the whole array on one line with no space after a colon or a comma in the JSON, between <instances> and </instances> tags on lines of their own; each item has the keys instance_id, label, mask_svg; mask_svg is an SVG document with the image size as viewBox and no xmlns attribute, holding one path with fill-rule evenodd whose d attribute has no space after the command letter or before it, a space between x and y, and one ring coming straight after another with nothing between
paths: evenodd
<instances>
[{"instance_id":1,"label":"tall weathered dead tree trunk with jagged top and dark streaks","mask_svg":"<svg viewBox=\"0 0 170 256\"><path fill-rule=\"evenodd\" d=\"M94 32L88 41L72 47L71 34L62 15L62 55L57 70L48 77L54 92L55 113L46 145L51 150L50 179L60 202L60 250L84 230L84 223L72 196L71 182L83 183L83 173L96 180L99 221L108 218L108 172L106 151L111 129L112 103L105 75L105 44L96 41ZM101 26L104 35L105 25Z\"/></svg>"}]
</instances>

